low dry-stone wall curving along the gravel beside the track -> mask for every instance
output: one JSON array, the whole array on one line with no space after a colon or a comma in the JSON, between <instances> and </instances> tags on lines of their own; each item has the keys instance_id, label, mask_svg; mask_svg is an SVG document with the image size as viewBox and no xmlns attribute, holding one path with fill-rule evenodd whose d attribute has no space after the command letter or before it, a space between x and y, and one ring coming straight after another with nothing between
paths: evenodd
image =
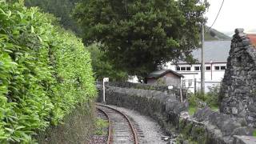
<instances>
[{"instance_id":1,"label":"low dry-stone wall curving along the gravel beside the track","mask_svg":"<svg viewBox=\"0 0 256 144\"><path fill-rule=\"evenodd\" d=\"M102 90L99 92L102 96ZM198 143L233 143L234 135L251 135L244 118L232 118L210 108L198 110L194 117L187 112L188 104L179 102L174 94L157 90L140 90L108 86L106 104L137 110L154 118L167 133L177 131Z\"/></svg>"}]
</instances>

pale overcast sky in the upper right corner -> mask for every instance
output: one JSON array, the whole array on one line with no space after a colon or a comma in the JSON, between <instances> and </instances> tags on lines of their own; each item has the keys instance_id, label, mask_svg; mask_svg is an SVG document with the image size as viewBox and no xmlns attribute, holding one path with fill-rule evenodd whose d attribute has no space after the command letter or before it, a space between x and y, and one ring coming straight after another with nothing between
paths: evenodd
<instances>
[{"instance_id":1,"label":"pale overcast sky in the upper right corner","mask_svg":"<svg viewBox=\"0 0 256 144\"><path fill-rule=\"evenodd\" d=\"M205 16L207 26L214 22L222 0L208 0L210 8ZM233 35L235 28L244 28L246 33L256 33L256 0L225 0L213 28L224 34Z\"/></svg>"}]
</instances>

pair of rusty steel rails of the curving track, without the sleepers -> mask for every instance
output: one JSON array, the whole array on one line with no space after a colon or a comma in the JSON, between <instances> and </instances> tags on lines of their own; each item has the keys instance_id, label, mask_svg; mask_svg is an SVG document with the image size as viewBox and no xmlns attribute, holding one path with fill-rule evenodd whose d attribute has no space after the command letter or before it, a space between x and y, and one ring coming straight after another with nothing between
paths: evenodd
<instances>
[{"instance_id":1,"label":"pair of rusty steel rails of the curving track, without the sleepers","mask_svg":"<svg viewBox=\"0 0 256 144\"><path fill-rule=\"evenodd\" d=\"M135 128L134 128L132 122L130 122L130 119L126 116L126 114L123 114L121 111L116 110L116 109L114 109L113 107L110 107L110 106L106 106L106 105L103 105L103 104L100 104L100 103L96 103L96 105L97 105L97 106L104 106L104 107L107 107L107 108L109 108L109 109L111 109L111 110L114 110L114 111L118 112L119 114L121 114L124 118L126 118L127 122L129 123L129 126L130 126L130 129L131 129L131 131L132 131L132 134L133 134L133 136L134 136L134 144L138 144L138 134L136 133L136 130L135 130ZM97 107L97 108L98 108L98 107ZM98 110L99 110L99 109L100 109L100 108L98 108ZM101 111L103 111L103 110L101 110ZM104 113L106 114L106 112L104 112ZM108 117L108 116L107 116L107 117ZM108 118L109 118L109 117L108 117ZM109 119L109 123L110 123L110 119ZM111 125L110 125L110 126L111 126ZM109 127L110 127L110 126L109 126ZM112 131L112 128L109 129L109 130ZM108 138L112 138L112 135L110 136L110 134L112 134L112 133L109 133ZM108 142L111 142L111 140L109 141L109 139L108 139ZM110 144L110 143L108 143L108 144Z\"/></svg>"}]
</instances>

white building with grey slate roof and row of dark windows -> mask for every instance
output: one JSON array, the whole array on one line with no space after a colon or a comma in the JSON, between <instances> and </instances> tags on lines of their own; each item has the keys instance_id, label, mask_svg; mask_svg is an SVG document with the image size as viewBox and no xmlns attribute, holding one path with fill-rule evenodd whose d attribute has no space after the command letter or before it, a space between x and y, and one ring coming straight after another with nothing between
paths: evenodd
<instances>
[{"instance_id":1,"label":"white building with grey slate roof and row of dark windows","mask_svg":"<svg viewBox=\"0 0 256 144\"><path fill-rule=\"evenodd\" d=\"M226 60L229 56L230 41L211 41L205 42L205 78L206 92L209 86L219 85L224 78L226 70ZM192 52L194 58L201 62L201 49ZM166 63L165 69L170 69L184 75L182 86L185 86L194 93L194 90L200 90L201 86L201 63L190 64L187 62Z\"/></svg>"}]
</instances>

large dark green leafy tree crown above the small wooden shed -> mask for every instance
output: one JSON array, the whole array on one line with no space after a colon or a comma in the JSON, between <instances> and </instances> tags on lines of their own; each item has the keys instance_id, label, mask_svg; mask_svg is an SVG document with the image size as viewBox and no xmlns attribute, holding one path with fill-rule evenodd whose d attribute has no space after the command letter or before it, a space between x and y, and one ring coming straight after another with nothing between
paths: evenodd
<instances>
[{"instance_id":1,"label":"large dark green leafy tree crown above the small wooden shed","mask_svg":"<svg viewBox=\"0 0 256 144\"><path fill-rule=\"evenodd\" d=\"M114 66L145 77L165 62L193 59L205 10L198 0L86 0L74 18L86 43L101 42Z\"/></svg>"}]
</instances>

